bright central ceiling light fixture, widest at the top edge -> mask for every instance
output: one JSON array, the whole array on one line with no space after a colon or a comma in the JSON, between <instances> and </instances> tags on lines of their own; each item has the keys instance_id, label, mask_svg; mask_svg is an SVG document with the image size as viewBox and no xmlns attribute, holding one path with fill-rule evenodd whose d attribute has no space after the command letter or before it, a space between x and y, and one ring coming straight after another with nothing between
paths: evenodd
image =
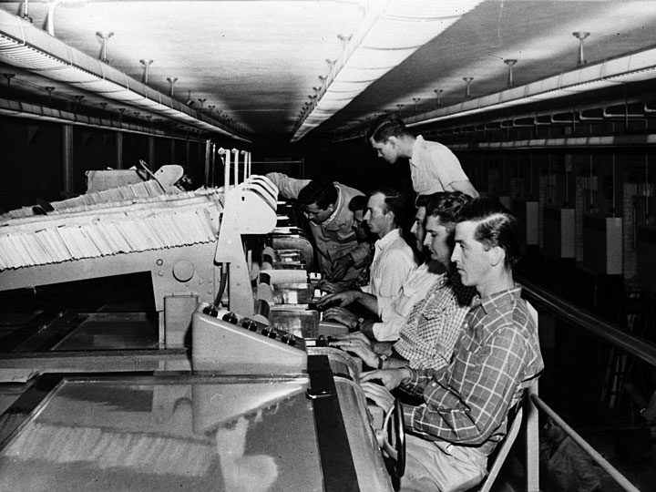
<instances>
[{"instance_id":1,"label":"bright central ceiling light fixture, widest at the top edge","mask_svg":"<svg viewBox=\"0 0 656 492\"><path fill-rule=\"evenodd\" d=\"M482 0L369 2L360 29L345 44L313 105L293 130L292 142L348 105L366 87L454 24Z\"/></svg>"}]
</instances>

